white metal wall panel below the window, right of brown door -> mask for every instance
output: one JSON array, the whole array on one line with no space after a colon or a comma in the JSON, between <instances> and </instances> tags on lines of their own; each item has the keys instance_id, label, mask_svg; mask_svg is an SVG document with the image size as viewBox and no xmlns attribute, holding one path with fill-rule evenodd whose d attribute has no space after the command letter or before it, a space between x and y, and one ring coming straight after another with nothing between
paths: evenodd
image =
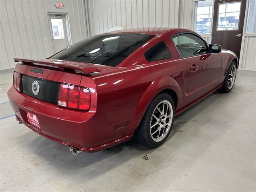
<instances>
[{"instance_id":1,"label":"white metal wall panel below the window, right of brown door","mask_svg":"<svg viewBox=\"0 0 256 192\"><path fill-rule=\"evenodd\" d=\"M242 52L242 61L239 66L240 69L256 70L256 34L254 36L244 37L244 50Z\"/></svg>"}]
</instances>

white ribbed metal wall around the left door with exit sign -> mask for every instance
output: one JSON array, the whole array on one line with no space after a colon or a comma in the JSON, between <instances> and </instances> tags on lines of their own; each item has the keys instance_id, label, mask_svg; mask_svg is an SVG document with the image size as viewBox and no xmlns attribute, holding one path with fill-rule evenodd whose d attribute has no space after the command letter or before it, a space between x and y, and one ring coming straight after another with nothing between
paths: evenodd
<instances>
[{"instance_id":1,"label":"white ribbed metal wall around the left door with exit sign","mask_svg":"<svg viewBox=\"0 0 256 192\"><path fill-rule=\"evenodd\" d=\"M46 58L53 54L48 12L68 13L72 43L88 37L84 0L1 0L0 69L13 68L14 57ZM46 41L44 38L46 37Z\"/></svg>"}]
</instances>

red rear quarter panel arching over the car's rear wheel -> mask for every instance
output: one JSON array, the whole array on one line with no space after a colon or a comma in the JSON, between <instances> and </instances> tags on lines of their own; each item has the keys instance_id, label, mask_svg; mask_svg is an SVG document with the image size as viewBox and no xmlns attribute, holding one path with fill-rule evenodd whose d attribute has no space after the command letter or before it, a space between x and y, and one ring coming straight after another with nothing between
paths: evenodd
<instances>
[{"instance_id":1,"label":"red rear quarter panel arching over the car's rear wheel","mask_svg":"<svg viewBox=\"0 0 256 192\"><path fill-rule=\"evenodd\" d=\"M128 69L128 70L127 70ZM127 67L116 74L94 78L98 106L106 122L120 124L131 120L132 133L150 104L162 90L170 88L179 97L177 108L187 104L187 69L182 60Z\"/></svg>"}]
</instances>

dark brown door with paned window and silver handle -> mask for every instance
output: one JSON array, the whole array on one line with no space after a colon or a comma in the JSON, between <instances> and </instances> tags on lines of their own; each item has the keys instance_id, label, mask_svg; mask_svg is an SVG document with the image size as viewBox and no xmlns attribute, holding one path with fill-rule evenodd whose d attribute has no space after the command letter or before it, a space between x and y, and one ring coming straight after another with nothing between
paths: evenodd
<instances>
[{"instance_id":1,"label":"dark brown door with paned window and silver handle","mask_svg":"<svg viewBox=\"0 0 256 192\"><path fill-rule=\"evenodd\" d=\"M240 56L246 0L215 0L212 21L212 44L232 50Z\"/></svg>"}]
</instances>

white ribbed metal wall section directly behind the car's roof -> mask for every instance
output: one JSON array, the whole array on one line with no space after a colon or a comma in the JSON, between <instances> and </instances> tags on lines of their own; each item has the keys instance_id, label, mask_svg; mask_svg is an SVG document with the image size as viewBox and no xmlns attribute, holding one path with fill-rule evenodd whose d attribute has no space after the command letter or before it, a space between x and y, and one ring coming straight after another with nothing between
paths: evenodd
<instances>
[{"instance_id":1,"label":"white ribbed metal wall section directly behind the car's roof","mask_svg":"<svg viewBox=\"0 0 256 192\"><path fill-rule=\"evenodd\" d=\"M179 0L85 0L88 2L90 35L113 26L178 27Z\"/></svg>"}]
</instances>

